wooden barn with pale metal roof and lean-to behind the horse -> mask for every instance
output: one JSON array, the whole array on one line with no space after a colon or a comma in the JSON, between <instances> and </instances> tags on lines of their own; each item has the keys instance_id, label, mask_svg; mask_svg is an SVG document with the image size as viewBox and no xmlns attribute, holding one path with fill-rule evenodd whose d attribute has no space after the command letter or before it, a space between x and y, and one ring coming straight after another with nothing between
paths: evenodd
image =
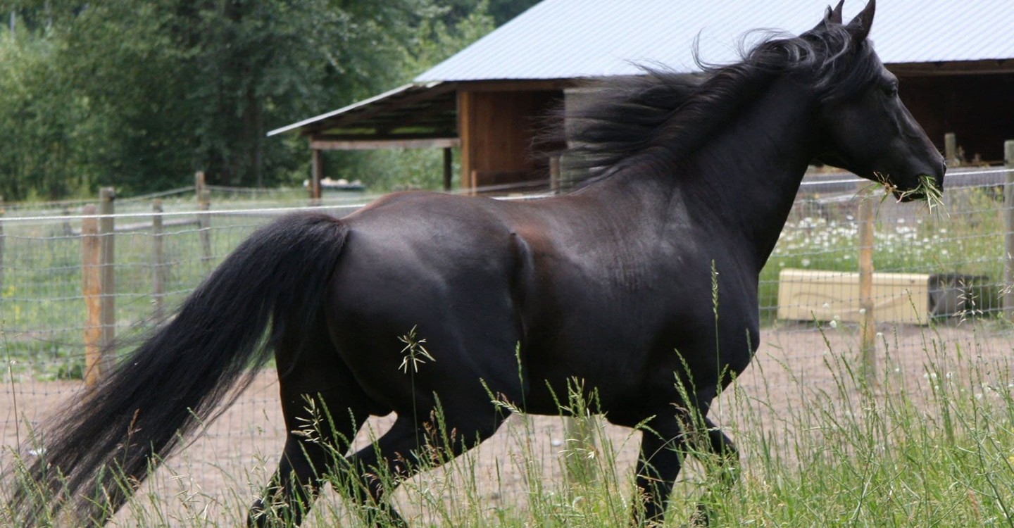
<instances>
[{"instance_id":1,"label":"wooden barn with pale metal roof and lean-to behind the horse","mask_svg":"<svg viewBox=\"0 0 1014 528\"><path fill-rule=\"evenodd\" d=\"M298 133L313 154L312 193L330 149L441 148L472 193L553 185L553 150L534 147L547 112L589 78L640 65L693 75L772 32L812 27L827 0L545 0L410 84L269 133ZM846 3L845 16L864 3ZM952 164L1003 161L1014 138L1014 9L1008 0L877 6L872 39L901 97ZM760 29L760 30L757 30ZM945 141L945 137L951 138ZM950 143L946 145L945 143Z\"/></svg>"}]
</instances>

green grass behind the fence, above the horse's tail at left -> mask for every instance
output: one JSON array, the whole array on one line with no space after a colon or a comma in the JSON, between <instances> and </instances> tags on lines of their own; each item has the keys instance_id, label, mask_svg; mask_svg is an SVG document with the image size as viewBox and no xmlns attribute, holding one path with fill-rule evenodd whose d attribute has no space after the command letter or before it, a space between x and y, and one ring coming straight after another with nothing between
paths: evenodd
<instances>
[{"instance_id":1,"label":"green grass behind the fence, above the horse's tail at left","mask_svg":"<svg viewBox=\"0 0 1014 528\"><path fill-rule=\"evenodd\" d=\"M303 191L268 196L215 195L213 211L298 207L307 204ZM361 196L325 199L325 205L363 203ZM78 214L76 208L71 215ZM193 200L166 200L166 213L193 211ZM118 225L150 223L150 204L117 204ZM3 222L3 270L0 282L0 331L4 358L13 361L12 373L25 379L63 379L83 370L83 333L86 323L82 292L81 228L79 218L20 221L19 217L53 217L61 210L20 208L8 211ZM169 222L193 220L192 215L166 216ZM269 216L214 216L209 258L204 258L196 225L164 228L164 305L171 310ZM68 233L68 230L71 233ZM118 334L149 326L154 311L153 251L150 229L116 236L116 313Z\"/></svg>"}]
</instances>

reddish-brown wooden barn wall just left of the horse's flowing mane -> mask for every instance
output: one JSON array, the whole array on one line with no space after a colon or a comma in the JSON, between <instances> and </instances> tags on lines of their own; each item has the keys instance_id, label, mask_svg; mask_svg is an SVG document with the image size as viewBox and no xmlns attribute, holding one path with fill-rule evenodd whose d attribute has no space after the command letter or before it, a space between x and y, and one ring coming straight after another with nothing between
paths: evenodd
<instances>
[{"instance_id":1,"label":"reddish-brown wooden barn wall just left of the horse's flowing mane","mask_svg":"<svg viewBox=\"0 0 1014 528\"><path fill-rule=\"evenodd\" d=\"M532 141L562 98L562 90L459 90L462 186L545 180L548 159Z\"/></svg>"}]
</instances>

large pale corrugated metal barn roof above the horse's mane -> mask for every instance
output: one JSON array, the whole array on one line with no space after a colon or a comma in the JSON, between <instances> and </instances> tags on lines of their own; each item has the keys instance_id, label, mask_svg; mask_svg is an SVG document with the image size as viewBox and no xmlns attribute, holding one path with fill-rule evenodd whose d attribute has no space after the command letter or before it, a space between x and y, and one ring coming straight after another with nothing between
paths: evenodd
<instances>
[{"instance_id":1,"label":"large pale corrugated metal barn roof above the horse's mane","mask_svg":"<svg viewBox=\"0 0 1014 528\"><path fill-rule=\"evenodd\" d=\"M696 71L739 59L765 28L800 33L830 0L544 0L417 82L566 79L639 73L636 64ZM850 19L865 2L847 0ZM882 0L871 37L885 63L1014 59L1014 0Z\"/></svg>"}]
</instances>

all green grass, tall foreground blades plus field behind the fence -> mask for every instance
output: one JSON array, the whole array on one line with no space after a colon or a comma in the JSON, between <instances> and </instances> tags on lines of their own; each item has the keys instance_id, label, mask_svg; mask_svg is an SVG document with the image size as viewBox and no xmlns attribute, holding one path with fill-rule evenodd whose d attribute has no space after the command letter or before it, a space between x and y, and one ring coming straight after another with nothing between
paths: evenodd
<instances>
[{"instance_id":1,"label":"all green grass, tall foreground blades plus field behind the fence","mask_svg":"<svg viewBox=\"0 0 1014 528\"><path fill-rule=\"evenodd\" d=\"M922 215L914 224L885 224L887 215L881 217L877 269L956 271L998 280L1000 204L983 190L952 200L958 206L951 206L949 215ZM243 204L251 202L236 200L216 209ZM855 270L854 223L848 215L845 209L794 213L762 276L763 306L775 305L782 268ZM168 304L262 222L216 218L211 261L201 259L201 241L192 228L168 229ZM59 222L11 222L4 229L0 343L13 374L8 377L75 377L83 326L79 240L64 235ZM121 324L143 321L150 313L150 247L145 233L118 237ZM984 332L999 324L969 323ZM769 394L798 394L793 405L774 407L769 394L733 388L723 399L721 423L743 452L739 479L727 494L708 493L720 478L714 459L703 455L711 462L692 461L672 495L667 526L683 525L702 501L717 526L1014 526L1014 372L1005 362L984 360L987 355L974 345L947 343L932 326L923 331L922 351L899 351L886 340L882 348L888 358L922 355L925 376L895 372L888 360L867 384L848 360L851 351L828 350L830 382L814 386L789 376L793 381L769 387ZM588 414L589 404L579 399L566 398L561 405ZM596 429L597 422L585 418L583 424L571 430L559 453L546 455L534 445L531 422L522 419L508 433L514 446L510 457L492 467L481 464L481 454L455 459L405 482L397 503L413 526L626 526L635 489L620 453L639 433L618 443ZM273 470L265 458L245 474L227 474L224 492L189 486L185 474L156 479L117 517L118 525L241 525L252 496ZM10 524L5 515L9 512L0 511L0 526ZM340 496L327 494L306 525L367 526L367 520Z\"/></svg>"}]
</instances>

